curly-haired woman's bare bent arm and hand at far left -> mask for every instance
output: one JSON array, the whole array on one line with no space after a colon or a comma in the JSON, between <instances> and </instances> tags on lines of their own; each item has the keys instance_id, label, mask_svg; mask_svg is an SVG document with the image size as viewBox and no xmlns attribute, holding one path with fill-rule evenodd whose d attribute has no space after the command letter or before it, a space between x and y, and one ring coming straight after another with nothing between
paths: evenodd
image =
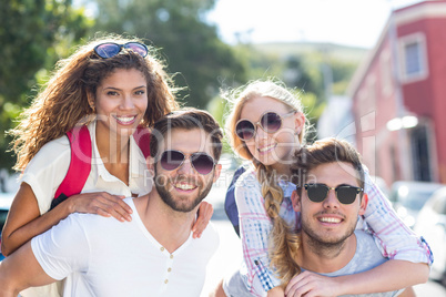
<instances>
[{"instance_id":1,"label":"curly-haired woman's bare bent arm and hand at far left","mask_svg":"<svg viewBox=\"0 0 446 297\"><path fill-rule=\"evenodd\" d=\"M10 255L71 213L91 213L107 217L113 216L121 222L131 221L132 209L122 198L123 196L105 192L78 194L40 215L34 192L29 184L21 183L1 234L1 252L6 256Z\"/></svg>"}]
</instances>

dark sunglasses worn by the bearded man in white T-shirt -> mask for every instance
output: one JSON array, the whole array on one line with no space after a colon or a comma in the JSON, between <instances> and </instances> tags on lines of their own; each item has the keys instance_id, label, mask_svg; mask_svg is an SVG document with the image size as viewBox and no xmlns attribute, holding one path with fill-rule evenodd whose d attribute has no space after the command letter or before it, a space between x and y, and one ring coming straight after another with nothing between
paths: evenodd
<instances>
[{"instance_id":1,"label":"dark sunglasses worn by the bearded man in white T-shirt","mask_svg":"<svg viewBox=\"0 0 446 297\"><path fill-rule=\"evenodd\" d=\"M161 154L160 164L165 171L174 171L181 167L184 160L189 157L194 170L203 175L212 172L215 166L215 161L206 153L193 153L189 156L180 151L169 150Z\"/></svg>"}]
</instances>

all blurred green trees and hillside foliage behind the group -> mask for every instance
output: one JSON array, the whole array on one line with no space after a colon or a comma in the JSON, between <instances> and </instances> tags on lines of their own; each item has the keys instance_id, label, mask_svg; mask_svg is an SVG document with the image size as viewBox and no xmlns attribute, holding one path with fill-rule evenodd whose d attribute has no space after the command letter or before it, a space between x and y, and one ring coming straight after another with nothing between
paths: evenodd
<instances>
[{"instance_id":1,"label":"all blurred green trees and hillside foliage behind the group","mask_svg":"<svg viewBox=\"0 0 446 297\"><path fill-rule=\"evenodd\" d=\"M87 0L83 2L87 3ZM323 68L330 65L332 92L343 94L362 49L334 44L223 43L204 13L215 0L94 0L95 24L71 0L2 0L0 2L0 127L4 132L48 80L57 60L68 57L80 39L121 33L136 35L160 49L170 73L176 73L185 105L209 109L224 124L229 112L219 89L236 88L250 80L278 78L300 92L314 125L325 106ZM308 134L310 137L314 133ZM11 167L11 140L0 134L0 164ZM225 150L229 150L225 144Z\"/></svg>"}]
</instances>

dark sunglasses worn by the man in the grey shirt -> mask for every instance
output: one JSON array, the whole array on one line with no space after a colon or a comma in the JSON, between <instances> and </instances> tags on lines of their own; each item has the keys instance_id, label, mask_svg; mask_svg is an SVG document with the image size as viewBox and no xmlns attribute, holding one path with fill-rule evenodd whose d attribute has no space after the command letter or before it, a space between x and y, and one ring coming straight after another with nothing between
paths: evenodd
<instances>
[{"instance_id":1,"label":"dark sunglasses worn by the man in the grey shirt","mask_svg":"<svg viewBox=\"0 0 446 297\"><path fill-rule=\"evenodd\" d=\"M352 204L355 202L356 195L364 191L361 187L351 185L330 187L326 184L304 184L304 187L308 198L316 203L323 202L327 197L328 191L334 190L336 193L336 198L342 204Z\"/></svg>"}]
</instances>

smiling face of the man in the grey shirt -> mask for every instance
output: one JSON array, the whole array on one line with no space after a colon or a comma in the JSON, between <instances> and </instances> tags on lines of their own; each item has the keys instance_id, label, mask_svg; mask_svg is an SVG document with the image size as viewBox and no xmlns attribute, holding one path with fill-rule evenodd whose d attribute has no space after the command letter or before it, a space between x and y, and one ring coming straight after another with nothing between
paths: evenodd
<instances>
[{"instance_id":1,"label":"smiling face of the man in the grey shirt","mask_svg":"<svg viewBox=\"0 0 446 297\"><path fill-rule=\"evenodd\" d=\"M316 166L307 176L312 176L311 183L322 183L328 187L359 186L357 176L352 172L355 171L349 163L333 162ZM321 203L310 201L304 188L301 197L294 192L292 198L294 209L301 212L303 242L310 240L313 246L342 244L355 231L358 215L364 214L367 204L365 196L361 201L359 195L356 195L354 203L342 204L333 190Z\"/></svg>"}]
</instances>

